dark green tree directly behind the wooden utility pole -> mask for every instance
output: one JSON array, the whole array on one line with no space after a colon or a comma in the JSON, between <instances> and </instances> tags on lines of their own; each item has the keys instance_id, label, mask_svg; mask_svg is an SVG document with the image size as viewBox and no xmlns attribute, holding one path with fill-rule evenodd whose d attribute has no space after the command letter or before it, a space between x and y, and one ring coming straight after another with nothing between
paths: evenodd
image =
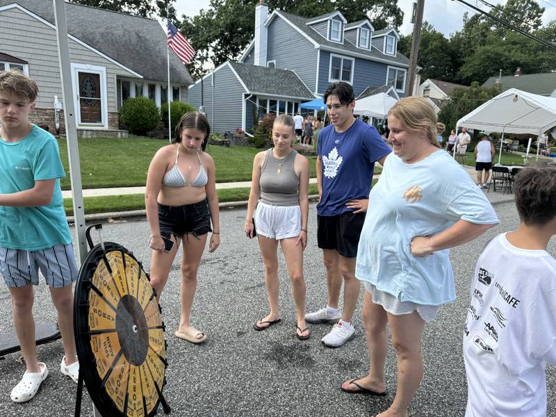
<instances>
[{"instance_id":1,"label":"dark green tree directly behind the wooden utility pole","mask_svg":"<svg viewBox=\"0 0 556 417\"><path fill-rule=\"evenodd\" d=\"M398 51L405 56L411 52L413 35L402 36ZM432 24L423 22L419 57L417 64L423 68L420 72L422 79L452 80L455 74L454 57L450 41L442 33L436 31Z\"/></svg>"}]
</instances>

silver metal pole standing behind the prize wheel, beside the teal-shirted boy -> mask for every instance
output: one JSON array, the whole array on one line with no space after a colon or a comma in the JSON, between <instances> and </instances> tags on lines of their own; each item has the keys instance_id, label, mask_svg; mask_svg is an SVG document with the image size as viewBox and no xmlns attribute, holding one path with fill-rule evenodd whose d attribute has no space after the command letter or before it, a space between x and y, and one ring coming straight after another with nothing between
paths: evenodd
<instances>
[{"instance_id":1,"label":"silver metal pole standing behind the prize wheel, beside the teal-shirted boy","mask_svg":"<svg viewBox=\"0 0 556 417\"><path fill-rule=\"evenodd\" d=\"M65 137L67 156L70 160L70 179L74 204L75 231L77 237L77 254L83 261L87 255L85 240L85 211L83 209L83 190L81 190L81 167L79 148L77 146L77 128L75 123L74 92L70 67L70 50L67 45L67 23L65 19L64 0L54 1L54 19L58 37L58 56L60 57L60 77L62 79L62 99L64 102Z\"/></svg>"}]
</instances>

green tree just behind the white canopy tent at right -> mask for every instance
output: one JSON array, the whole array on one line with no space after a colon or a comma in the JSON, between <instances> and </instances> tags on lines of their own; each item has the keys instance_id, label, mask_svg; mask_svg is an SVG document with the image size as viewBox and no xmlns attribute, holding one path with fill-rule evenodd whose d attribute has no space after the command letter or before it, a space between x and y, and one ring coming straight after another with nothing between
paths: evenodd
<instances>
[{"instance_id":1,"label":"green tree just behind the white canopy tent at right","mask_svg":"<svg viewBox=\"0 0 556 417\"><path fill-rule=\"evenodd\" d=\"M456 123L464 115L471 113L481 104L496 97L502 92L501 85L483 88L477 82L471 83L470 88L456 88L450 93L450 101L439 113L439 122L446 126L446 130L455 129Z\"/></svg>"}]
</instances>

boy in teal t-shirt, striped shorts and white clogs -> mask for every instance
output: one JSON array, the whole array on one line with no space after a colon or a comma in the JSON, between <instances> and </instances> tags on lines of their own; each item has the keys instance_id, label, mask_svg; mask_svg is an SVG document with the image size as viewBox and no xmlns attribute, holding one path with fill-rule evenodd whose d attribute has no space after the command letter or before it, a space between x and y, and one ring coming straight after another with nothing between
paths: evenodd
<instances>
[{"instance_id":1,"label":"boy in teal t-shirt, striped shorts and white clogs","mask_svg":"<svg viewBox=\"0 0 556 417\"><path fill-rule=\"evenodd\" d=\"M28 121L38 87L18 70L0 72L0 275L10 289L26 373L10 395L31 400L48 375L37 359L33 285L39 270L50 288L65 357L60 371L77 382L72 283L77 267L63 208L65 177L54 136Z\"/></svg>"}]
</instances>

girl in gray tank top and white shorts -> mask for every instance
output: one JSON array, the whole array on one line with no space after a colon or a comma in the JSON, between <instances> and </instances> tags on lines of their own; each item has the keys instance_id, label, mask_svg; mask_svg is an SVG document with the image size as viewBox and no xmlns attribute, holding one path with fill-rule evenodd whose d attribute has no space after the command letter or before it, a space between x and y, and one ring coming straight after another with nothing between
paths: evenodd
<instances>
[{"instance_id":1,"label":"girl in gray tank top and white shorts","mask_svg":"<svg viewBox=\"0 0 556 417\"><path fill-rule=\"evenodd\" d=\"M309 338L305 322L305 281L303 250L307 244L309 216L309 161L291 148L295 139L295 123L288 115L279 115L272 126L274 147L256 154L245 234L259 235L259 247L265 263L265 283L270 313L257 320L257 331L281 321L278 309L278 243L280 243L290 274L293 299L297 309L295 335ZM259 200L259 197L261 198ZM255 211L256 207L256 211Z\"/></svg>"}]
</instances>

